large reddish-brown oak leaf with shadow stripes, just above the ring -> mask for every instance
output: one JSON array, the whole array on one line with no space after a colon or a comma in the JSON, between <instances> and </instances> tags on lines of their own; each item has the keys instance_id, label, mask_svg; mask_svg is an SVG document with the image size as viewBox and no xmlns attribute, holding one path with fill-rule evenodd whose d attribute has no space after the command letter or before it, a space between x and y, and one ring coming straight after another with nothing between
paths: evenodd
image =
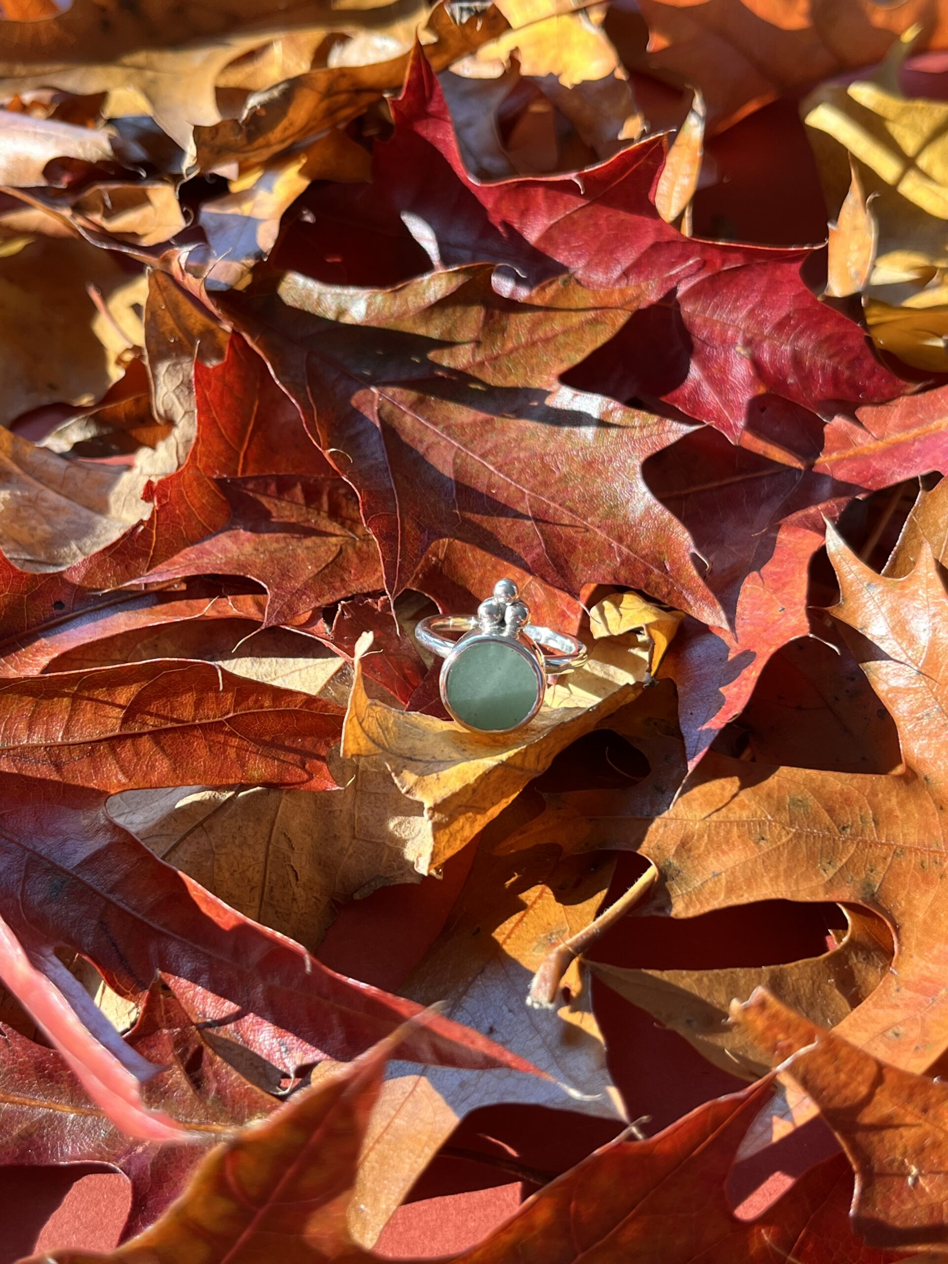
<instances>
[{"instance_id":1,"label":"large reddish-brown oak leaf with shadow stripes, just above the ring","mask_svg":"<svg viewBox=\"0 0 948 1264\"><path fill-rule=\"evenodd\" d=\"M713 612L641 475L680 426L557 383L624 321L593 292L562 277L518 303L485 267L369 292L288 273L219 306L359 493L389 593L450 537L575 595L637 584Z\"/></svg>"}]
</instances>

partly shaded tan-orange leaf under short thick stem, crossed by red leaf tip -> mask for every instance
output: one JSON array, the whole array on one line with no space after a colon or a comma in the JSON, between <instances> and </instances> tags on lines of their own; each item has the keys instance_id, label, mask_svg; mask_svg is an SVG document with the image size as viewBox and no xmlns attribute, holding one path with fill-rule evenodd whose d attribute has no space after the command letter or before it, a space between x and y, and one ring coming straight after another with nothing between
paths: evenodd
<instances>
[{"instance_id":1,"label":"partly shaded tan-orange leaf under short thick stem, crossed by red leaf tip","mask_svg":"<svg viewBox=\"0 0 948 1264\"><path fill-rule=\"evenodd\" d=\"M603 857L562 860L557 847L495 857L482 846L447 925L401 991L423 1005L441 1002L442 1012L489 1033L551 1078L392 1064L349 1208L356 1241L375 1241L459 1119L479 1106L531 1102L622 1119L585 967L570 966L557 1010L525 1004L549 949L595 916L612 868Z\"/></svg>"}]
</instances>

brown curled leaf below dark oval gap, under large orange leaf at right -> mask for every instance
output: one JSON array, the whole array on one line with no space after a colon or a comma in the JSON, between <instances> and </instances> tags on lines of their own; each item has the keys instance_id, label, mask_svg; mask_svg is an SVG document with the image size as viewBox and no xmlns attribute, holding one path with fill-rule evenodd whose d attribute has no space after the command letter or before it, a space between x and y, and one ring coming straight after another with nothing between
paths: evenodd
<instances>
[{"instance_id":1,"label":"brown curled leaf below dark oval gap, under large orange leaf at right","mask_svg":"<svg viewBox=\"0 0 948 1264\"><path fill-rule=\"evenodd\" d=\"M743 1028L728 1023L732 1000L766 987L823 1026L836 1026L887 973L891 944L877 918L846 910L849 923L838 947L822 957L785 966L731 969L623 969L590 962L597 978L683 1035L700 1054L732 1076L757 1079L770 1071ZM880 932L882 932L880 938Z\"/></svg>"}]
</instances>

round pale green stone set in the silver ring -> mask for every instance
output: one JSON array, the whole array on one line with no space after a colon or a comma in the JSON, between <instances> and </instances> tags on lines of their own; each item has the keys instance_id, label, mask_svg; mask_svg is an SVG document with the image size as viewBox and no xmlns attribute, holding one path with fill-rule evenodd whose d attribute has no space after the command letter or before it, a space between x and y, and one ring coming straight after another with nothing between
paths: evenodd
<instances>
[{"instance_id":1,"label":"round pale green stone set in the silver ring","mask_svg":"<svg viewBox=\"0 0 948 1264\"><path fill-rule=\"evenodd\" d=\"M536 672L512 645L477 641L451 665L445 686L455 715L488 732L521 724L536 705Z\"/></svg>"}]
</instances>

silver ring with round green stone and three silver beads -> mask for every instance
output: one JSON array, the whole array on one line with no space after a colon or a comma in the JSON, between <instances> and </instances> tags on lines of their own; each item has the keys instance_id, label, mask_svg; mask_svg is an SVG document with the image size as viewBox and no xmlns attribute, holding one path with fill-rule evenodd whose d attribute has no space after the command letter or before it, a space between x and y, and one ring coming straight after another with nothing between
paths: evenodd
<instances>
[{"instance_id":1,"label":"silver ring with round green stone and three silver beads","mask_svg":"<svg viewBox=\"0 0 948 1264\"><path fill-rule=\"evenodd\" d=\"M445 707L479 733L511 733L528 724L542 705L546 678L586 661L576 637L530 622L512 579L499 579L477 614L435 614L418 623L415 636L445 660Z\"/></svg>"}]
</instances>

